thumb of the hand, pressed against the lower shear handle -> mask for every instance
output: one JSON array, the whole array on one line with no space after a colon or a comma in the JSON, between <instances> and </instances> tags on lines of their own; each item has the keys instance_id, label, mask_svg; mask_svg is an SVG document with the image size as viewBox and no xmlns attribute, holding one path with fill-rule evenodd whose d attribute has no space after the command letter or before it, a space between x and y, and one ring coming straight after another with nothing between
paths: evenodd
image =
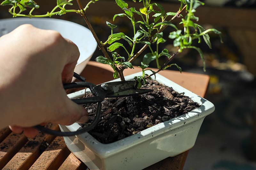
<instances>
[{"instance_id":1,"label":"thumb of the hand, pressed against the lower shear handle","mask_svg":"<svg viewBox=\"0 0 256 170\"><path fill-rule=\"evenodd\" d=\"M61 125L71 125L75 122L85 123L89 120L89 114L87 110L81 105L76 104L68 97L65 98L65 105L63 106L62 113L60 113L60 119L54 123Z\"/></svg>"}]
</instances>

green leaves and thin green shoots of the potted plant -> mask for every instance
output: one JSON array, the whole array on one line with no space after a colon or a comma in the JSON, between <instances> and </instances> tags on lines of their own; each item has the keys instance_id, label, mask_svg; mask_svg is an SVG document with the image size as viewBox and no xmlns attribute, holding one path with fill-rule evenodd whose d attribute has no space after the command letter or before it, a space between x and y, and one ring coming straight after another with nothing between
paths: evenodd
<instances>
[{"instance_id":1,"label":"green leaves and thin green shoots of the potted plant","mask_svg":"<svg viewBox=\"0 0 256 170\"><path fill-rule=\"evenodd\" d=\"M86 11L91 3L95 3L99 0L91 0L86 5L83 10L66 10L66 5L72 5L73 0L57 0L57 5L53 8L51 12L47 12L45 15L32 15L34 9L39 8L33 0L4 0L1 5L11 5L9 12L13 15L13 17L23 16L23 17L51 17L52 15L63 15L67 12L76 12L81 15L84 15L83 11ZM136 0L132 0L136 2ZM149 47L150 53L144 55L143 61L141 62L140 68L142 69L142 76L135 77L138 81L138 86L140 87L143 83L145 83L146 78L150 78L150 75L145 73L145 70L148 70L149 63L156 61L157 68L159 70L165 70L169 67L176 66L180 72L181 68L175 64L170 64L169 62L172 58L177 54L181 53L185 48L195 49L202 58L204 63L204 71L205 71L205 61L202 50L193 45L194 40L197 40L198 43L201 43L201 39L203 37L205 43L212 48L209 32L216 33L220 35L220 31L216 29L208 29L205 30L202 26L196 24L199 20L198 17L195 16L196 9L204 5L199 0L178 0L180 1L180 9L178 12L165 11L164 7L158 3L151 3L151 0L137 0L137 3L143 3L143 7L140 9L135 9L134 7L129 7L128 4L124 0L116 0L116 4L123 10L123 13L119 13L114 15L113 21L115 21L116 17L125 17L130 20L131 25L133 26L133 37L129 37L124 33L113 33L113 29L117 26L106 22L107 26L111 29L111 34L105 42L100 42L101 46L107 46L107 49L112 54L112 58L108 58L106 56L99 56L96 58L96 61L103 64L110 65L114 72L114 78L118 78L120 76L120 67L122 68L133 68L132 66L132 58L136 56L135 47L137 44L145 44ZM114 4L113 4L114 5ZM183 17L180 12L185 8L187 15ZM19 12L16 13L16 9L19 8ZM30 12L25 15L22 12L26 11L27 8L30 8ZM60 11L56 11L60 9ZM138 17L135 17L135 16ZM154 22L150 22L153 17ZM172 23L172 20L175 18L181 17L180 26L176 26ZM140 18L136 20L135 18ZM166 42L164 39L163 30L165 27L172 27L173 31L169 33L168 38L173 39L173 46L177 47L177 53L171 55L167 49L159 51L159 45L162 45ZM182 29L178 29L182 28ZM136 29L139 28L139 29ZM119 40L125 40L126 44L121 44ZM119 42L118 42L119 41ZM221 40L222 41L222 40ZM153 46L154 44L154 46ZM117 54L116 49L123 48L126 51L126 56L120 56ZM136 56L137 57L137 56ZM159 64L159 58L166 57L167 62L164 65ZM152 75L155 74L153 70Z\"/></svg>"}]
</instances>

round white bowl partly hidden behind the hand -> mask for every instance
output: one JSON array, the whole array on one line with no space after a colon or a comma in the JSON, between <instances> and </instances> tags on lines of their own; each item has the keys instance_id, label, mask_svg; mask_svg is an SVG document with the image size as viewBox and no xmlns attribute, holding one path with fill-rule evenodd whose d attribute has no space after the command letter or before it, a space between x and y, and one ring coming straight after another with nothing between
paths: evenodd
<instances>
[{"instance_id":1,"label":"round white bowl partly hidden behind the hand","mask_svg":"<svg viewBox=\"0 0 256 170\"><path fill-rule=\"evenodd\" d=\"M0 37L23 24L31 24L40 29L58 31L64 38L73 41L79 48L75 72L80 74L90 61L97 43L89 29L74 22L54 18L10 18L0 19Z\"/></svg>"}]
</instances>

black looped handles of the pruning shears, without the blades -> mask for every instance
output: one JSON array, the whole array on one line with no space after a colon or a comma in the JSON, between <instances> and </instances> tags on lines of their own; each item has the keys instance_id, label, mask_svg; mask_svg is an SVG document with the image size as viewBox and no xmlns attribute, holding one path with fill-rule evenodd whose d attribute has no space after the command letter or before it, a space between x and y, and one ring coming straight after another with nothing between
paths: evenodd
<instances>
[{"instance_id":1,"label":"black looped handles of the pruning shears, without the blades","mask_svg":"<svg viewBox=\"0 0 256 170\"><path fill-rule=\"evenodd\" d=\"M94 87L96 85L89 83L89 82L85 82L85 78L83 78L82 76L80 76L77 73L74 73L74 77L83 81L83 82L75 82L75 83L68 83L63 85L64 89L72 89L72 88L89 88L92 92L93 95L96 95L96 92L94 92ZM77 104L88 104L88 103L98 103L98 108L97 108L97 113L96 116L94 118L94 121L87 127L84 127L82 129L78 129L77 131L74 132L60 132L60 131L56 131L56 130L52 130L52 129L48 129L45 128L43 126L37 125L34 128L36 128L37 130L46 133L46 134L50 134L50 135L54 135L54 136L75 136L75 135L79 135L85 132L88 132L90 130L92 130L99 122L100 120L100 112L101 112L101 101L102 98L99 96L95 96L95 97L90 97L90 98L86 98L86 99L74 99L72 100Z\"/></svg>"}]
</instances>

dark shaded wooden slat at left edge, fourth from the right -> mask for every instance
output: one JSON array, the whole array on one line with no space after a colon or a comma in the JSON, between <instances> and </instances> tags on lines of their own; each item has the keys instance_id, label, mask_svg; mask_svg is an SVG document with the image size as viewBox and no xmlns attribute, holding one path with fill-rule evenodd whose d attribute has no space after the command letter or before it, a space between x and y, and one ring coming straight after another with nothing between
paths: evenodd
<instances>
[{"instance_id":1,"label":"dark shaded wooden slat at left edge, fourth from the right","mask_svg":"<svg viewBox=\"0 0 256 170\"><path fill-rule=\"evenodd\" d=\"M0 144L0 169L2 169L9 160L20 150L28 141L28 138L22 135L11 133Z\"/></svg>"}]
</instances>

